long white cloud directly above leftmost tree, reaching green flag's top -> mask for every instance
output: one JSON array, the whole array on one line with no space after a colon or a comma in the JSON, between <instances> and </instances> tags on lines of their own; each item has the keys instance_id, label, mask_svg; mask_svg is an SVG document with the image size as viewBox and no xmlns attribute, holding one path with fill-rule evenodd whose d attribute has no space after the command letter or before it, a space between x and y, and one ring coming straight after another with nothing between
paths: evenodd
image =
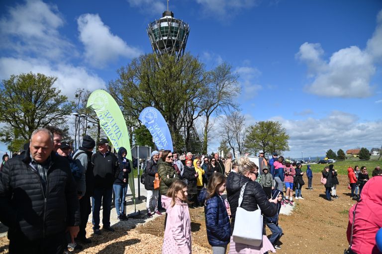
<instances>
[{"instance_id":1,"label":"long white cloud directly above leftmost tree, reaching green flag's top","mask_svg":"<svg viewBox=\"0 0 382 254\"><path fill-rule=\"evenodd\" d=\"M54 85L69 99L74 98L77 88L85 88L90 91L105 88L104 81L97 75L88 73L84 67L67 64L52 65L49 61L43 59L0 58L0 79L9 79L12 74L18 75L28 72L57 77L58 79Z\"/></svg>"}]
</instances>

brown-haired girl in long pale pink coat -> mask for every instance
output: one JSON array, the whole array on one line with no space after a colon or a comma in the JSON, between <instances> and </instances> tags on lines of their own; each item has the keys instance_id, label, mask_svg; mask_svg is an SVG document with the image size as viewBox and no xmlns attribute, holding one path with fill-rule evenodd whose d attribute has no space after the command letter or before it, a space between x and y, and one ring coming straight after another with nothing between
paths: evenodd
<instances>
[{"instance_id":1,"label":"brown-haired girl in long pale pink coat","mask_svg":"<svg viewBox=\"0 0 382 254\"><path fill-rule=\"evenodd\" d=\"M187 204L187 184L174 181L167 196L162 195L162 206L166 208L166 230L162 254L191 254L191 220Z\"/></svg>"}]
</instances>

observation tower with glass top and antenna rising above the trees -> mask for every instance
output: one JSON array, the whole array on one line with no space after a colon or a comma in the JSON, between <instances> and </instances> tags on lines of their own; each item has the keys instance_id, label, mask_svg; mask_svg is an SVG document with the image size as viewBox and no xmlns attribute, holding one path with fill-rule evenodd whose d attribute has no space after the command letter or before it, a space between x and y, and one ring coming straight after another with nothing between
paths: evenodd
<instances>
[{"instance_id":1,"label":"observation tower with glass top and antenna rising above the trees","mask_svg":"<svg viewBox=\"0 0 382 254\"><path fill-rule=\"evenodd\" d=\"M174 13L169 10L168 0L167 10L163 12L162 18L151 22L147 27L151 47L157 57L169 54L175 56L176 61L185 52L189 33L190 25L174 18Z\"/></svg>"}]
</instances>

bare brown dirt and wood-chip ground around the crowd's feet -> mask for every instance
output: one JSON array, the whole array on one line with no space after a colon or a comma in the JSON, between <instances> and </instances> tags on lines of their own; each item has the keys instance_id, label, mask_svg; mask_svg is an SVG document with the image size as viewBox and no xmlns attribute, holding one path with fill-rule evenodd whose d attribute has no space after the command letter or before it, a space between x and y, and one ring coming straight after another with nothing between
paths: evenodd
<instances>
[{"instance_id":1,"label":"bare brown dirt and wood-chip ground around the crowd's feet","mask_svg":"<svg viewBox=\"0 0 382 254\"><path fill-rule=\"evenodd\" d=\"M282 249L279 254L338 254L347 248L346 228L348 211L355 201L350 199L350 190L347 189L347 175L339 175L340 185L337 186L337 195L340 198L329 202L324 199L324 190L320 184L319 173L314 173L314 190L302 190L304 200L298 200L293 213L289 216L280 216L280 225L285 235L281 238ZM304 179L306 180L306 179ZM306 180L307 182L307 180ZM306 187L304 185L304 187ZM207 241L203 208L190 209L192 252L195 254L211 253ZM101 236L90 233L91 224L88 224L88 237L92 239L91 245L84 245L81 254L160 254L164 232L164 216L143 223L136 223L128 227L122 224L114 225L113 233L103 232ZM137 225L137 227L135 226ZM267 228L267 234L270 231ZM8 240L0 238L0 253L7 252Z\"/></svg>"}]
</instances>

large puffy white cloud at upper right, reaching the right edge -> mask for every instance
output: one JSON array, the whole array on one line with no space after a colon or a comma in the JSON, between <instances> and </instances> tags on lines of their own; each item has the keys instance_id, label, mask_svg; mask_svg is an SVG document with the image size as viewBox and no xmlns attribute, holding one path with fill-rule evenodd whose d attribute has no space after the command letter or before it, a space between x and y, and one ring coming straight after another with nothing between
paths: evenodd
<instances>
[{"instance_id":1,"label":"large puffy white cloud at upper right, reaching the right edge","mask_svg":"<svg viewBox=\"0 0 382 254\"><path fill-rule=\"evenodd\" d=\"M328 61L319 43L305 42L296 58L308 66L308 77L313 81L307 91L329 97L363 98L373 94L370 81L376 73L375 63L382 58L382 11L377 27L365 50L357 46L334 52Z\"/></svg>"}]
</instances>

